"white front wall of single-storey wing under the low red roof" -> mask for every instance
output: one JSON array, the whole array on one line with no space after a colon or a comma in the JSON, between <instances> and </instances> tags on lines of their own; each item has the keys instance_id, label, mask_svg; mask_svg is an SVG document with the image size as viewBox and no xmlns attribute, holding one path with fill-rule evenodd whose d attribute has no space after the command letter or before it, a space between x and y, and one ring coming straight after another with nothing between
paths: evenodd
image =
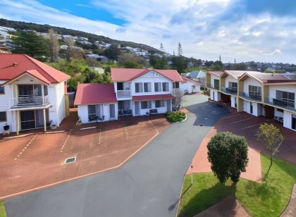
<instances>
[{"instance_id":1,"label":"white front wall of single-storey wing under the low red roof","mask_svg":"<svg viewBox=\"0 0 296 217\"><path fill-rule=\"evenodd\" d=\"M111 119L109 116L109 104L97 105L101 107L101 116L104 116L104 121L108 120L118 120L118 104L115 104L115 116L116 118ZM78 106L78 116L82 123L89 123L88 121L88 109L87 105Z\"/></svg>"}]
</instances>

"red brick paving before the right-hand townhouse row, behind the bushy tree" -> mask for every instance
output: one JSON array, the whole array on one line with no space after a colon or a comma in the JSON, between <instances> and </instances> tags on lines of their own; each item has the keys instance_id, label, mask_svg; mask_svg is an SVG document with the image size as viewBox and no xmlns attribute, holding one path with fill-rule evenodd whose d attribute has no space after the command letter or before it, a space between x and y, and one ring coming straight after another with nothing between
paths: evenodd
<instances>
[{"instance_id":1,"label":"red brick paving before the right-hand townhouse row, behind the bushy tree","mask_svg":"<svg viewBox=\"0 0 296 217\"><path fill-rule=\"evenodd\" d=\"M216 102L215 102L216 103ZM221 104L221 103L217 103ZM215 124L209 133L204 137L202 144L200 145L195 157L192 159L194 165L193 172L211 172L211 165L207 160L207 149L206 144L209 142L210 138L218 132L230 131L236 135L242 135L247 138L249 145L249 163L247 166L247 171L242 173L241 177L248 180L253 180L256 182L261 181L261 160L260 152L268 152L264 144L256 140L255 135L259 130L259 125L261 123L272 123L276 127L280 128L280 131L285 137L285 140L282 146L279 149L279 153L276 154L281 159L290 161L291 163L296 164L296 143L295 136L296 132L283 128L283 125L277 123L274 120L269 120L265 117L255 117L245 112L238 113L235 109L231 108L228 104L221 104L221 106L226 106L230 110L230 114L223 116ZM187 174L191 173L191 168L188 168Z\"/></svg>"}]
</instances>

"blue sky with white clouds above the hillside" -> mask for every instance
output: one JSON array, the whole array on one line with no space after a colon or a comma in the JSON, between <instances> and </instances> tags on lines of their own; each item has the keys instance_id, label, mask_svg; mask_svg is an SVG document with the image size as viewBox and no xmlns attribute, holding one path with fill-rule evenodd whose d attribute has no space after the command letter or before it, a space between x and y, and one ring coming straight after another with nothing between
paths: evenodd
<instances>
[{"instance_id":1,"label":"blue sky with white clouds above the hillside","mask_svg":"<svg viewBox=\"0 0 296 217\"><path fill-rule=\"evenodd\" d=\"M1 0L0 17L113 39L162 42L173 53L223 62L296 63L292 0Z\"/></svg>"}]
</instances>

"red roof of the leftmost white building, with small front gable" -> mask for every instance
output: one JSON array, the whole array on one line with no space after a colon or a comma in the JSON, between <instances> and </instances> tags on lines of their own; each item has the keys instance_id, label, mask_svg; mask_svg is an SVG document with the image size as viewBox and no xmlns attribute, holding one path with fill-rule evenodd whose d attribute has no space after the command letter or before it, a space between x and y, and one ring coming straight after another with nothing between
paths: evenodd
<instances>
[{"instance_id":1,"label":"red roof of the leftmost white building, with small front gable","mask_svg":"<svg viewBox=\"0 0 296 217\"><path fill-rule=\"evenodd\" d=\"M66 73L62 73L60 70L56 70L25 54L0 54L0 80L13 80L32 70L35 70L35 77L42 77L50 84L70 78ZM37 74L39 75L37 76Z\"/></svg>"}]
</instances>

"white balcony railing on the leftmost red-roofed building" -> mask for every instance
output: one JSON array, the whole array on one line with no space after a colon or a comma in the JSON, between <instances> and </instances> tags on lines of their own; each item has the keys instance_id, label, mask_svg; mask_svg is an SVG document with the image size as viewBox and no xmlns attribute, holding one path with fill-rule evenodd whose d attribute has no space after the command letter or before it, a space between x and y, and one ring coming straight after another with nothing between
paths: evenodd
<instances>
[{"instance_id":1,"label":"white balcony railing on the leftmost red-roofed building","mask_svg":"<svg viewBox=\"0 0 296 217\"><path fill-rule=\"evenodd\" d=\"M17 98L11 98L11 109L46 106L49 104L48 96L45 97L32 97L32 96L20 96Z\"/></svg>"}]
</instances>

